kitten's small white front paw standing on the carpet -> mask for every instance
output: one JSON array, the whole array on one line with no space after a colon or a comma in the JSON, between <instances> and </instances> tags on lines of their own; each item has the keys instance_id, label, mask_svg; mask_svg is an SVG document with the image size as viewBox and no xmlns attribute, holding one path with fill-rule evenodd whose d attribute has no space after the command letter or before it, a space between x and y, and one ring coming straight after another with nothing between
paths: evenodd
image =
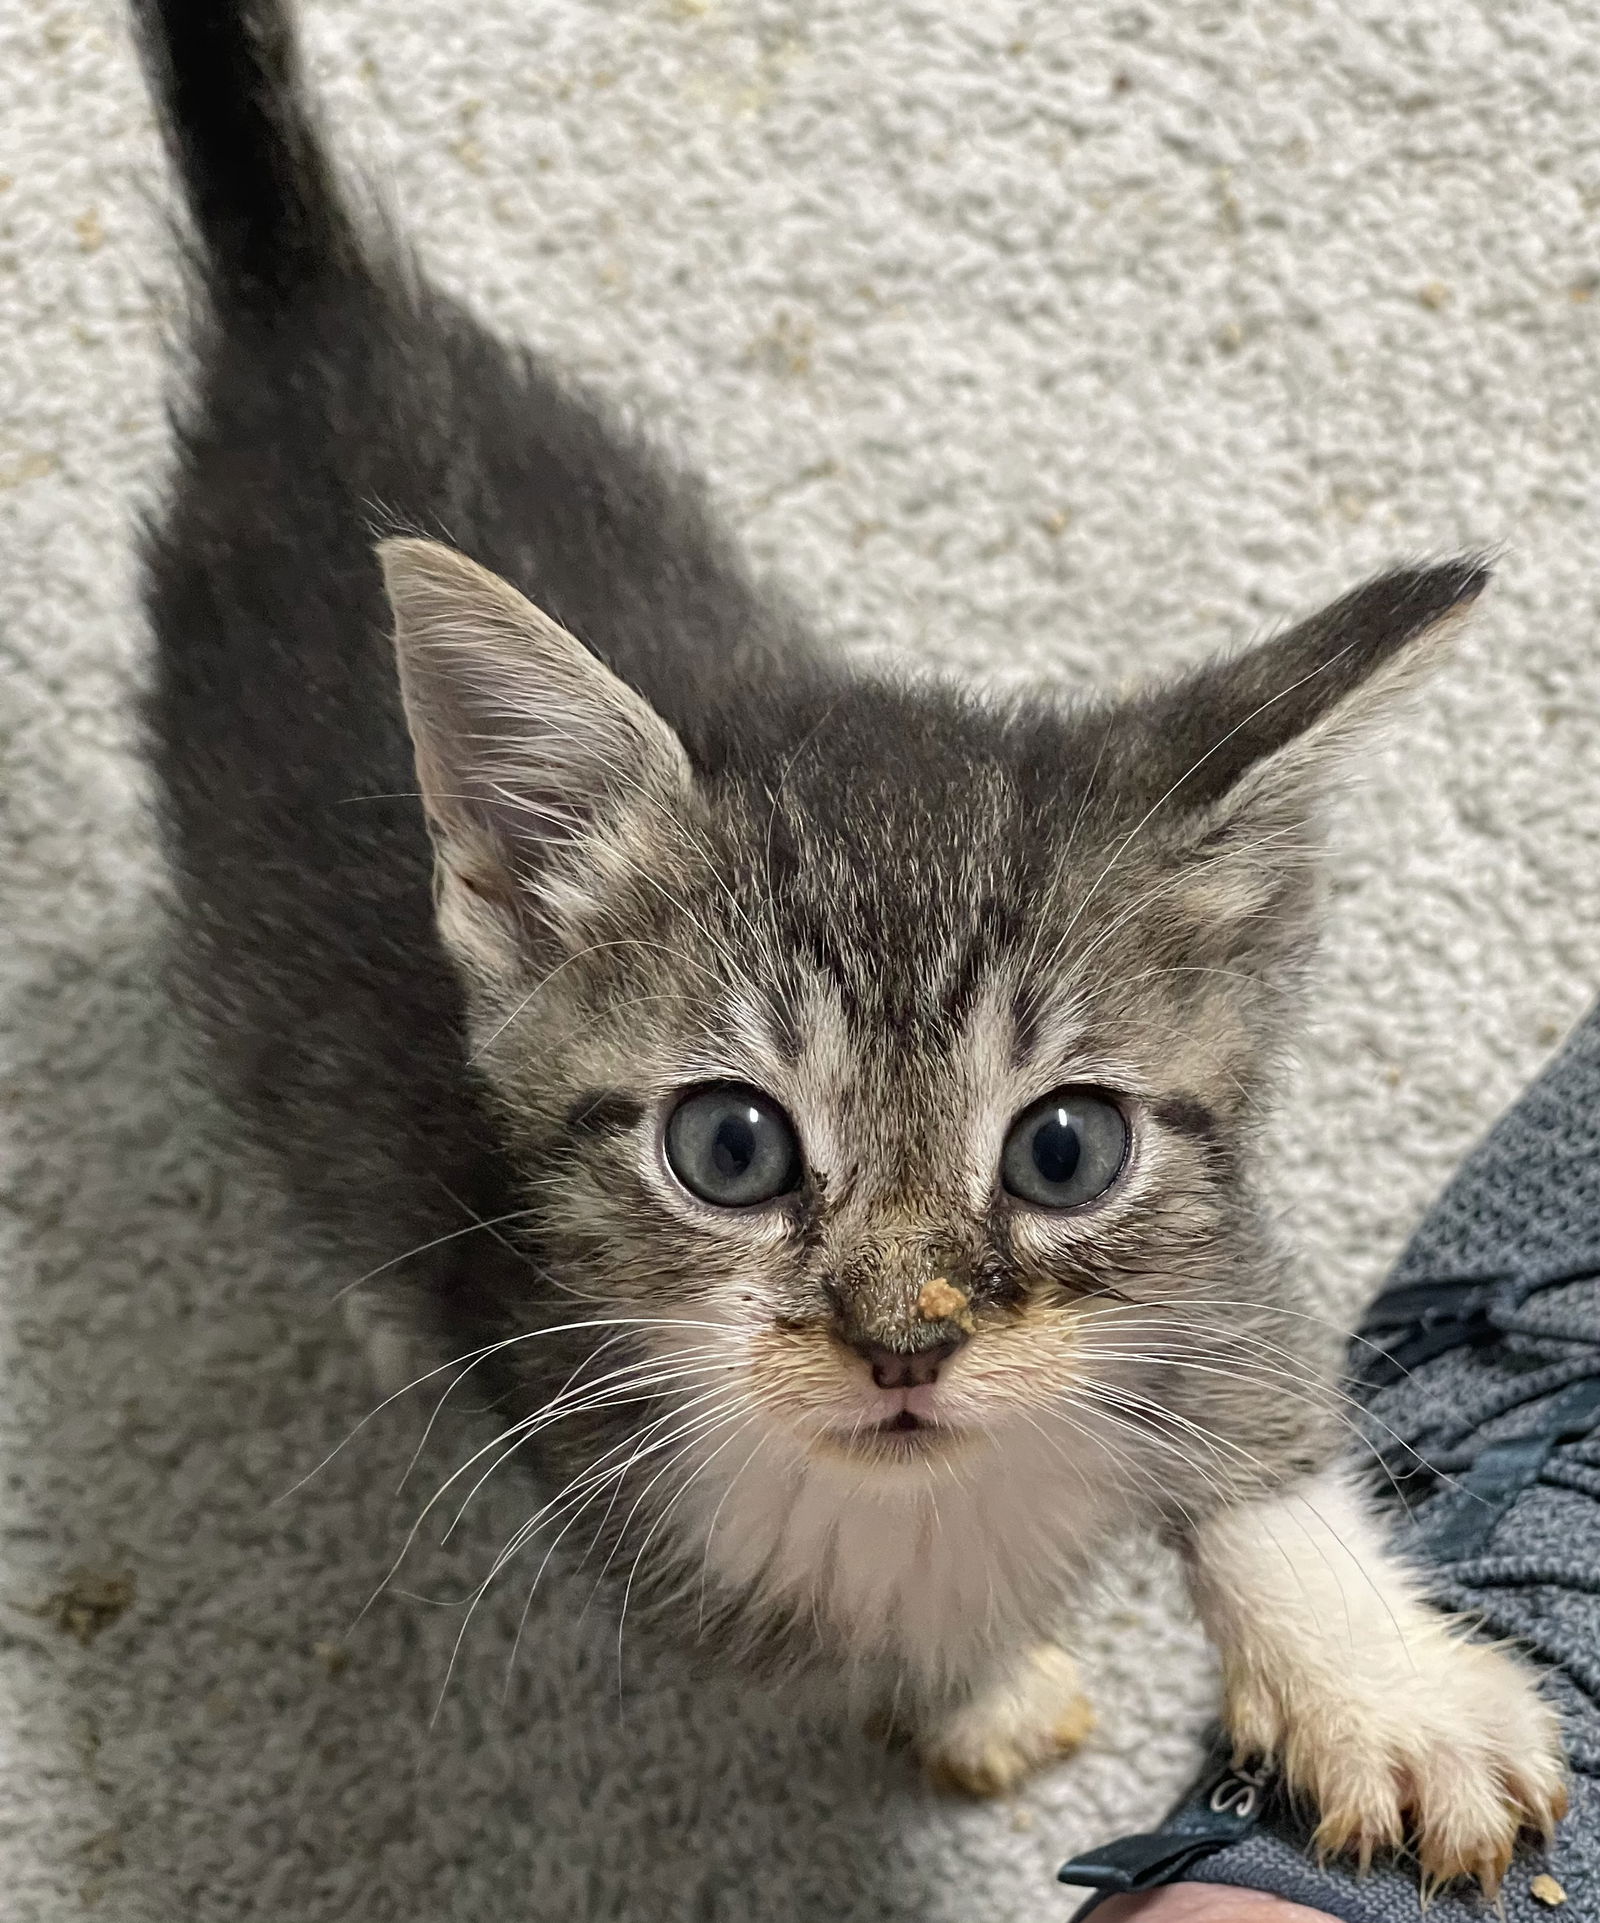
<instances>
[{"instance_id":1,"label":"kitten's small white front paw standing on the carpet","mask_svg":"<svg viewBox=\"0 0 1600 1923\"><path fill-rule=\"evenodd\" d=\"M1065 1650L1040 1644L1027 1661L962 1704L919 1744L929 1781L963 1796L1002 1796L1060 1761L1094 1729L1094 1710Z\"/></svg>"}]
</instances>

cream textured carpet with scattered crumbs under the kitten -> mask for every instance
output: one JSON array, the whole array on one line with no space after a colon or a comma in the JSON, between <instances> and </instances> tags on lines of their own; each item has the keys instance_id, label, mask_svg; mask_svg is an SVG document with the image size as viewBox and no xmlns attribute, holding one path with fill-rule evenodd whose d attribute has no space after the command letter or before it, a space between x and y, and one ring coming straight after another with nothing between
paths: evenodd
<instances>
[{"instance_id":1,"label":"cream textured carpet with scattered crumbs under the kitten","mask_svg":"<svg viewBox=\"0 0 1600 1923\"><path fill-rule=\"evenodd\" d=\"M687 446L848 646L1065 685L1504 544L1335 813L1277 1192L1331 1315L1600 975L1600 40L1460 0L317 0L435 271ZM437 1481L183 1077L131 762L165 175L110 0L0 13L0 1915L1038 1923L1179 1785L1169 1571L996 1808L469 1594ZM1594 298L1590 298L1594 294ZM444 1436L452 1460L454 1431Z\"/></svg>"}]
</instances>

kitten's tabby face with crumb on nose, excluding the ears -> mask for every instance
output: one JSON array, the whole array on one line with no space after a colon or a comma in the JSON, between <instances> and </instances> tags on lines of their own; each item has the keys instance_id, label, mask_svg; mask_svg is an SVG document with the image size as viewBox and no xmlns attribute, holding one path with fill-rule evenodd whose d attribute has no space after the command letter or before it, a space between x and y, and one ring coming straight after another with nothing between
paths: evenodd
<instances>
[{"instance_id":1,"label":"kitten's tabby face with crumb on nose, excluding the ears","mask_svg":"<svg viewBox=\"0 0 1600 1923\"><path fill-rule=\"evenodd\" d=\"M1142 781L1090 787L1104 715L1040 790L958 704L863 704L919 713L913 767L871 712L777 802L633 817L475 1025L563 1288L660 1317L752 1438L912 1488L1137 1421L1244 1263L1281 979L1242 931L1300 871L1138 829Z\"/></svg>"}]
</instances>

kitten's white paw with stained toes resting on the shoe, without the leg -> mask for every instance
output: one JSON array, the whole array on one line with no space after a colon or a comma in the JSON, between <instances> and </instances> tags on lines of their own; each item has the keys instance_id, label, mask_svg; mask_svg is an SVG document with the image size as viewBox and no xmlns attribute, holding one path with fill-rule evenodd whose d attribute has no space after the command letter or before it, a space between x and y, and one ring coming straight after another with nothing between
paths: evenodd
<instances>
[{"instance_id":1,"label":"kitten's white paw with stained toes resting on the shoe, without the leg","mask_svg":"<svg viewBox=\"0 0 1600 1923\"><path fill-rule=\"evenodd\" d=\"M1225 1717L1240 1758L1275 1760L1317 1806L1319 1852L1367 1867L1410 1838L1425 1885L1494 1896L1517 1835L1567 1808L1560 1725L1523 1663L1429 1631L1402 1673L1363 1675L1360 1652L1342 1677L1235 1671Z\"/></svg>"}]
</instances>

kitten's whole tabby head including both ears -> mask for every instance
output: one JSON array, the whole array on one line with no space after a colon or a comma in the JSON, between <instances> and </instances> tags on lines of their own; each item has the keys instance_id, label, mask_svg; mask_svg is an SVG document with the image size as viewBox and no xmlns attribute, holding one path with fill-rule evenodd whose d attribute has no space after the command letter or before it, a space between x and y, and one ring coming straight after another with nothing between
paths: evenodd
<instances>
[{"instance_id":1,"label":"kitten's whole tabby head including both ears","mask_svg":"<svg viewBox=\"0 0 1600 1923\"><path fill-rule=\"evenodd\" d=\"M1317 796L1479 563L1125 702L840 675L681 738L494 575L383 562L540 1250L685 1421L892 1490L1267 1373L1248 1152Z\"/></svg>"}]
</instances>

